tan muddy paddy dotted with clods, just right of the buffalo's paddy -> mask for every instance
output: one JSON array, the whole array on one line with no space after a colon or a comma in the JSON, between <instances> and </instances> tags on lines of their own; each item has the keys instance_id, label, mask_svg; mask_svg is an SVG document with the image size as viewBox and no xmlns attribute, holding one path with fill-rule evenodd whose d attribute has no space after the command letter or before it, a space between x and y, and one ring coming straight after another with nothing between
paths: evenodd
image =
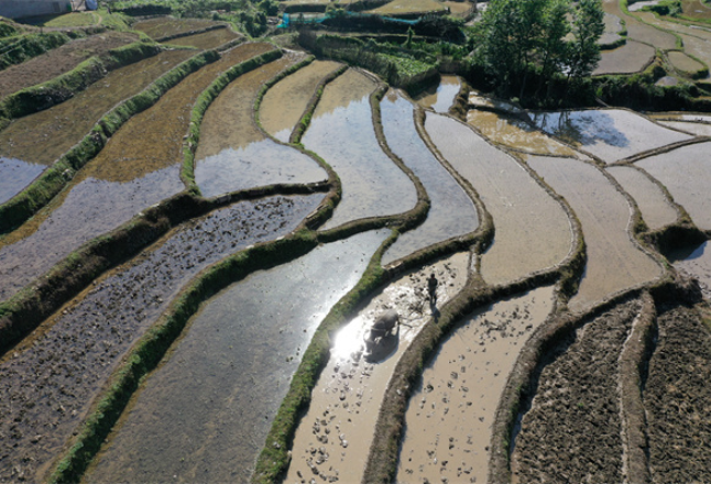
<instances>
[{"instance_id":1,"label":"tan muddy paddy dotted with clods, just right of the buffalo's paddy","mask_svg":"<svg viewBox=\"0 0 711 484\"><path fill-rule=\"evenodd\" d=\"M486 482L501 393L551 308L553 288L538 288L474 311L441 343L409 399L397 482Z\"/></svg>"}]
</instances>

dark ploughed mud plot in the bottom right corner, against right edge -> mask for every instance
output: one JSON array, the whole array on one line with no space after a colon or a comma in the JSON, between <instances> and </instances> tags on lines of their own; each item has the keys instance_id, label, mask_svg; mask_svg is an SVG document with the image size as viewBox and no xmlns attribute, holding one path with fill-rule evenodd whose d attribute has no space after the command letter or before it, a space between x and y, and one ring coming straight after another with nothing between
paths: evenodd
<instances>
[{"instance_id":1,"label":"dark ploughed mud plot in the bottom right corner, against right edge","mask_svg":"<svg viewBox=\"0 0 711 484\"><path fill-rule=\"evenodd\" d=\"M643 394L652 480L703 482L711 469L711 333L685 307L661 312L657 322Z\"/></svg>"}]
</instances>

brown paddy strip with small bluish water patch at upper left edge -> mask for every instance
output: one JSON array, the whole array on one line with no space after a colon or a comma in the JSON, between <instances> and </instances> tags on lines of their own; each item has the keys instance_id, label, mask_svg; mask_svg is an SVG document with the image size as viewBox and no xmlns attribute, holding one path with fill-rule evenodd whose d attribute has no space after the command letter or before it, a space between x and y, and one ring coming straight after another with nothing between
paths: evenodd
<instances>
[{"instance_id":1,"label":"brown paddy strip with small bluish water patch at upper left edge","mask_svg":"<svg viewBox=\"0 0 711 484\"><path fill-rule=\"evenodd\" d=\"M17 184L0 182L0 202L26 187L46 166L86 136L96 122L194 53L166 51L109 73L72 99L14 120L0 131L0 176L12 169Z\"/></svg>"}]
</instances>

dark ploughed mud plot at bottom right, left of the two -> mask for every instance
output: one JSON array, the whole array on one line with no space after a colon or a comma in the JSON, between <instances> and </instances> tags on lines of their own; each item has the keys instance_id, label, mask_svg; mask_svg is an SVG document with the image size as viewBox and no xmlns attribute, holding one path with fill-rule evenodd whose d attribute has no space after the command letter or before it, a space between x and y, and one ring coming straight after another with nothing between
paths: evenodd
<instances>
[{"instance_id":1,"label":"dark ploughed mud plot at bottom right, left of the two","mask_svg":"<svg viewBox=\"0 0 711 484\"><path fill-rule=\"evenodd\" d=\"M513 482L623 482L617 360L637 301L604 312L543 369L513 452Z\"/></svg>"}]
</instances>

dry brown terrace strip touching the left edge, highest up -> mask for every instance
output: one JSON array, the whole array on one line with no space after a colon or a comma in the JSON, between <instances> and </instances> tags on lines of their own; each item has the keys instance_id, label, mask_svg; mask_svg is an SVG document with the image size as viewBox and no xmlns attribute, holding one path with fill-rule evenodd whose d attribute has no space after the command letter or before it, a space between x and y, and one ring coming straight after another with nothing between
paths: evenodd
<instances>
[{"instance_id":1,"label":"dry brown terrace strip touching the left edge, highest up","mask_svg":"<svg viewBox=\"0 0 711 484\"><path fill-rule=\"evenodd\" d=\"M10 66L0 70L0 99L22 88L45 82L68 73L89 57L138 40L139 36L133 33L103 32L77 38L28 62Z\"/></svg>"}]
</instances>

